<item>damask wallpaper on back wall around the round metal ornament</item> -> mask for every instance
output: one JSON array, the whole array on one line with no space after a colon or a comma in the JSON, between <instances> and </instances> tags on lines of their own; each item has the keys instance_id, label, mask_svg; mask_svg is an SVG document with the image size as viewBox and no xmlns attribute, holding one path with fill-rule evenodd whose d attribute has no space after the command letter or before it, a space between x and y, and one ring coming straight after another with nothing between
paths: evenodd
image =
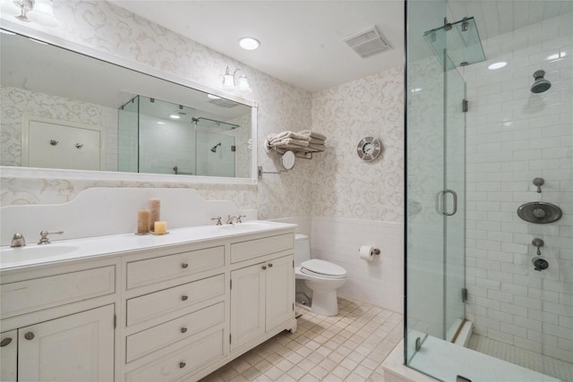
<instances>
[{"instance_id":1,"label":"damask wallpaper on back wall around the round metal ornament","mask_svg":"<svg viewBox=\"0 0 573 382\"><path fill-rule=\"evenodd\" d=\"M312 215L403 222L404 71L401 67L312 95L312 129L329 138L313 159ZM363 162L363 137L382 142Z\"/></svg>"}]
</instances>

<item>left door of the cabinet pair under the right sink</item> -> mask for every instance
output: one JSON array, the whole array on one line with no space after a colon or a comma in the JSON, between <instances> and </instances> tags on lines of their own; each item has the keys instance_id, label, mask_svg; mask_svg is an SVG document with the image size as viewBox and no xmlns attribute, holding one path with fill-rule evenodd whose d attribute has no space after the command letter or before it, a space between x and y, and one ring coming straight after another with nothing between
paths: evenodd
<instances>
[{"instance_id":1,"label":"left door of the cabinet pair under the right sink","mask_svg":"<svg viewBox=\"0 0 573 382\"><path fill-rule=\"evenodd\" d=\"M231 350L265 333L265 264L231 272Z\"/></svg>"}]
</instances>

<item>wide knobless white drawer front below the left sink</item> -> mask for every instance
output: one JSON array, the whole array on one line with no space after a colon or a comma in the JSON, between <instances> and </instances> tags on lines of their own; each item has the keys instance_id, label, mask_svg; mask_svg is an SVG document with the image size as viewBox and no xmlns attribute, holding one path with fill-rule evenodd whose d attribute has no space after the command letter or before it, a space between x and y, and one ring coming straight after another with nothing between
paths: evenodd
<instances>
[{"instance_id":1,"label":"wide knobless white drawer front below the left sink","mask_svg":"<svg viewBox=\"0 0 573 382\"><path fill-rule=\"evenodd\" d=\"M115 267L47 276L2 288L2 318L115 293Z\"/></svg>"}]
</instances>

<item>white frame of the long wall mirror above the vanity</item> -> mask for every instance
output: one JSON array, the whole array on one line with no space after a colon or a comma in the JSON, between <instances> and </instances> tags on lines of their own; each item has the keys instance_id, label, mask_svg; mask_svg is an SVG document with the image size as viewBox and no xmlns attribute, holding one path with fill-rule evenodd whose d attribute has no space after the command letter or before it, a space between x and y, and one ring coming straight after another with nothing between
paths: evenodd
<instances>
[{"instance_id":1,"label":"white frame of the long wall mirror above the vanity","mask_svg":"<svg viewBox=\"0 0 573 382\"><path fill-rule=\"evenodd\" d=\"M66 179L66 180L93 180L93 181L127 181L127 182L167 182L182 184L257 184L257 116L258 104L235 95L227 94L222 89L210 89L200 83L184 79L178 75L161 72L158 69L139 64L122 57L109 55L106 52L98 51L91 47L85 47L80 44L58 38L57 36L47 34L39 30L33 30L22 26L20 23L2 19L0 28L17 33L28 38L35 38L44 41L47 44L61 47L72 52L87 55L92 58L105 61L110 64L122 66L135 72L156 77L160 80L175 82L187 88L197 89L205 93L210 93L221 98L227 98L252 109L252 150L251 150L251 177L250 178L230 178L218 176L199 176L199 175L175 175L175 174L149 174L149 173L121 173L111 171L89 171L89 170L67 170L39 167L22 167L22 166L0 166L2 178L14 179Z\"/></svg>"}]
</instances>

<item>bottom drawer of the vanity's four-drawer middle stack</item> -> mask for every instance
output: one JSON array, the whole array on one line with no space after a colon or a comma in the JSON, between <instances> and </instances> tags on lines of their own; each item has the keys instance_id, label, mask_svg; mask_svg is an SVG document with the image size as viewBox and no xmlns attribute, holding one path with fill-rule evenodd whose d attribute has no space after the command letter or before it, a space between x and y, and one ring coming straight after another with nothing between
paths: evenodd
<instances>
[{"instance_id":1,"label":"bottom drawer of the vanity's four-drawer middle stack","mask_svg":"<svg viewBox=\"0 0 573 382\"><path fill-rule=\"evenodd\" d=\"M134 369L125 380L133 382L172 381L182 378L210 361L223 357L223 330L203 335L158 362Z\"/></svg>"}]
</instances>

